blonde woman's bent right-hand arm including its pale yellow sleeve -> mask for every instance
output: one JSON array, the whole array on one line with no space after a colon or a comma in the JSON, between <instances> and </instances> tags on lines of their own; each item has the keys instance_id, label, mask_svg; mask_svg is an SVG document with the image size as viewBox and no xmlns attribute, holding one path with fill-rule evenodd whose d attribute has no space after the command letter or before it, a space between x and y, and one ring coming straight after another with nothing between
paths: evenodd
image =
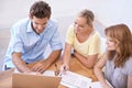
<instances>
[{"instance_id":1,"label":"blonde woman's bent right-hand arm including its pale yellow sleeve","mask_svg":"<svg viewBox=\"0 0 132 88\"><path fill-rule=\"evenodd\" d=\"M92 40L91 40L92 38ZM95 31L95 34L90 36L90 43L86 44L84 51L89 51L87 57L75 51L74 56L87 68L94 68L98 54L100 53L100 35ZM88 48L87 48L88 45ZM78 47L79 48L79 47ZM81 48L81 47L80 47Z\"/></svg>"}]
</instances>

